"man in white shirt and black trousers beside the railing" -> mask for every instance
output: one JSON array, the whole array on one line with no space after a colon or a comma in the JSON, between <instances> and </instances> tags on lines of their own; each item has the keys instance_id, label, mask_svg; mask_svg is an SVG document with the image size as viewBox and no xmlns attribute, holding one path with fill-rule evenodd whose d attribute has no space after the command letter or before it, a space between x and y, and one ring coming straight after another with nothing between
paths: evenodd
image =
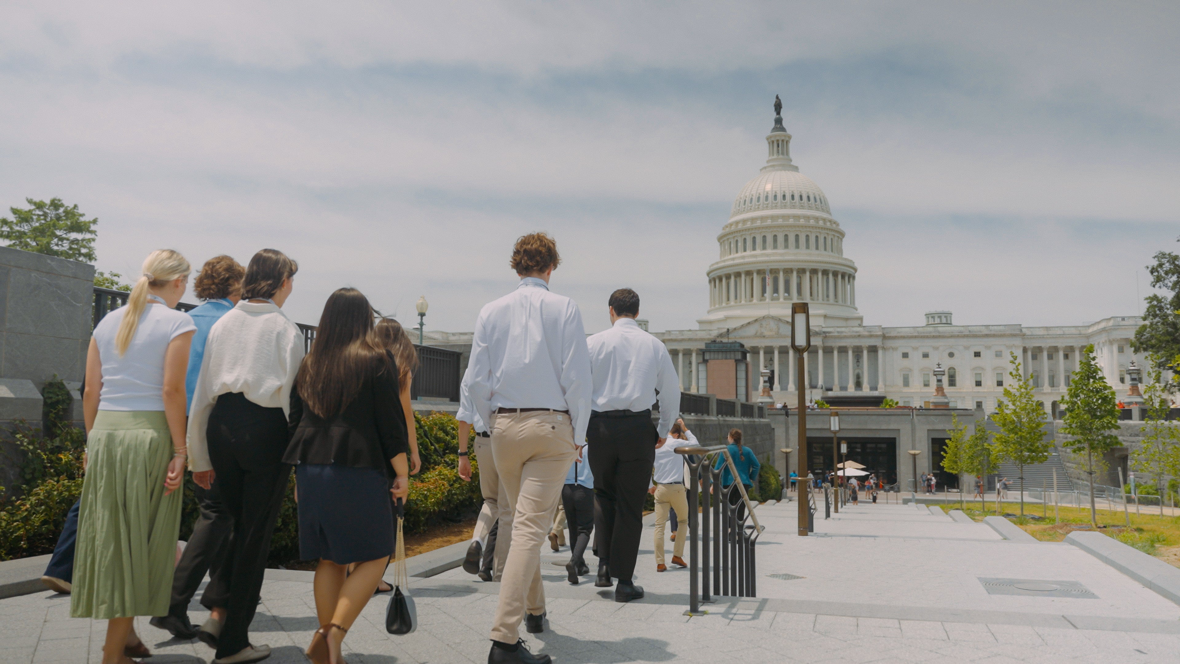
<instances>
[{"instance_id":1,"label":"man in white shirt and black trousers beside the railing","mask_svg":"<svg viewBox=\"0 0 1180 664\"><path fill-rule=\"evenodd\" d=\"M598 578L609 587L618 579L615 601L643 597L632 581L643 533L644 494L651 483L656 445L680 416L680 378L663 341L643 331L640 295L620 288L610 295L610 330L590 337L594 412L586 442L595 484ZM651 404L660 399L660 423Z\"/></svg>"}]
</instances>

